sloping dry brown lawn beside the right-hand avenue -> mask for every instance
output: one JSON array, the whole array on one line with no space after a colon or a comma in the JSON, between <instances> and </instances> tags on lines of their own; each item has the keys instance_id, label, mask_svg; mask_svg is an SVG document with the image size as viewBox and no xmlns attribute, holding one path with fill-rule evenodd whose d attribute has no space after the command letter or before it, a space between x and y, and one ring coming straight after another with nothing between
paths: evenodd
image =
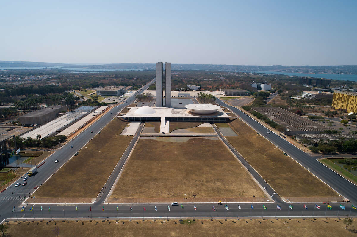
<instances>
[{"instance_id":1,"label":"sloping dry brown lawn beside the right-hand avenue","mask_svg":"<svg viewBox=\"0 0 357 237\"><path fill-rule=\"evenodd\" d=\"M241 120L229 125L238 136L226 137L253 168L284 197L335 197L335 191L310 172L285 156L269 141ZM263 148L263 149L262 149Z\"/></svg>"}]
</instances>

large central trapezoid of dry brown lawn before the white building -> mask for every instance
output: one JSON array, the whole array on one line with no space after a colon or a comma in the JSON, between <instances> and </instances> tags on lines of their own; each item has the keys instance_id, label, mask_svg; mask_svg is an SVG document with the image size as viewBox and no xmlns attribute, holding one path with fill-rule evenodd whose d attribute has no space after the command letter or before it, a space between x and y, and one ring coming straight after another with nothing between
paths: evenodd
<instances>
[{"instance_id":1,"label":"large central trapezoid of dry brown lawn before the white building","mask_svg":"<svg viewBox=\"0 0 357 237\"><path fill-rule=\"evenodd\" d=\"M141 138L116 184L119 198L264 196L218 138Z\"/></svg>"}]
</instances>

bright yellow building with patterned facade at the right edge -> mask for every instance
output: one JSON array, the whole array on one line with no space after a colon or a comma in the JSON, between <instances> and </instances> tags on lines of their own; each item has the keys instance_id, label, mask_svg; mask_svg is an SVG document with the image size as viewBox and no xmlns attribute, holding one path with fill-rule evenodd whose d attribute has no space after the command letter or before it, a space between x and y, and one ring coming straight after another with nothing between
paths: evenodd
<instances>
[{"instance_id":1,"label":"bright yellow building with patterned facade at the right edge","mask_svg":"<svg viewBox=\"0 0 357 237\"><path fill-rule=\"evenodd\" d=\"M348 113L357 112L357 93L348 91L334 91L332 106L335 109L345 109Z\"/></svg>"}]
</instances>

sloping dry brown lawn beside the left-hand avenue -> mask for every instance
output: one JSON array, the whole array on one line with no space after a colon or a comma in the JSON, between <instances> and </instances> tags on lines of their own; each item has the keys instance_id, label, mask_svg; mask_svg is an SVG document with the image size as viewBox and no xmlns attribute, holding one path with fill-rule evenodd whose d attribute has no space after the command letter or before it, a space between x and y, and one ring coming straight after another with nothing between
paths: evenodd
<instances>
[{"instance_id":1,"label":"sloping dry brown lawn beside the left-hand avenue","mask_svg":"<svg viewBox=\"0 0 357 237\"><path fill-rule=\"evenodd\" d=\"M133 136L120 136L127 125L116 118L33 194L41 197L95 198Z\"/></svg>"}]
</instances>

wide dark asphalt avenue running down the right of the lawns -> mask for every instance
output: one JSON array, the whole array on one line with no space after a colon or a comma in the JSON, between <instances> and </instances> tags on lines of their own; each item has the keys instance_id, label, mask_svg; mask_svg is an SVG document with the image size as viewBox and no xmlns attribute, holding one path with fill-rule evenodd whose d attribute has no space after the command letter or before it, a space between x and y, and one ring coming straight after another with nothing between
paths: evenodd
<instances>
[{"instance_id":1,"label":"wide dark asphalt avenue running down the right of the lawns","mask_svg":"<svg viewBox=\"0 0 357 237\"><path fill-rule=\"evenodd\" d=\"M357 186L355 184L333 172L331 169L318 162L316 158L313 158L309 154L301 151L299 148L286 141L281 136L275 134L261 123L246 115L240 109L227 105L222 100L216 99L216 101L219 105L227 107L236 115L238 115L243 121L254 128L254 130L265 136L271 143L275 144L275 146L278 146L282 151L295 159L303 167L310 170L312 174L320 178L332 189L336 190L343 197L348 198L352 203L357 204ZM268 134L268 132L270 132L270 134Z\"/></svg>"}]
</instances>

